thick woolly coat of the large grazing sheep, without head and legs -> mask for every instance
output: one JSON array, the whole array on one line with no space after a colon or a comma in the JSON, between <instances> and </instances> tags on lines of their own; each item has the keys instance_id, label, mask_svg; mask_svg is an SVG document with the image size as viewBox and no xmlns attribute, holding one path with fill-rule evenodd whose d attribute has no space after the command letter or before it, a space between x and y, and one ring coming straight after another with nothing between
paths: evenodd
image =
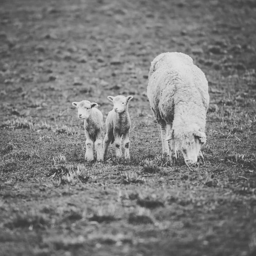
<instances>
[{"instance_id":1,"label":"thick woolly coat of the large grazing sheep, without head and legs","mask_svg":"<svg viewBox=\"0 0 256 256\"><path fill-rule=\"evenodd\" d=\"M208 82L188 55L166 52L154 58L148 74L147 94L159 124L166 122L173 131L184 133L192 127L205 131Z\"/></svg>"}]
</instances>

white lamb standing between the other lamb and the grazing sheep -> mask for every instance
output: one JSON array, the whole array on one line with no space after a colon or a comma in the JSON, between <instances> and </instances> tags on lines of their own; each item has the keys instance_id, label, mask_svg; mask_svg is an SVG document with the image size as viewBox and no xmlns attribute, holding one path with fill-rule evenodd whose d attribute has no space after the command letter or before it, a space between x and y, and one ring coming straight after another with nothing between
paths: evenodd
<instances>
[{"instance_id":1,"label":"white lamb standing between the other lamb and the grazing sheep","mask_svg":"<svg viewBox=\"0 0 256 256\"><path fill-rule=\"evenodd\" d=\"M121 137L123 135L123 145L125 148L125 159L130 159L130 128L131 120L128 113L128 102L133 96L108 96L108 99L113 102L113 109L108 113L106 119L107 133L103 142L104 158L107 156L109 143L115 142L116 157L122 157Z\"/></svg>"}]
</instances>

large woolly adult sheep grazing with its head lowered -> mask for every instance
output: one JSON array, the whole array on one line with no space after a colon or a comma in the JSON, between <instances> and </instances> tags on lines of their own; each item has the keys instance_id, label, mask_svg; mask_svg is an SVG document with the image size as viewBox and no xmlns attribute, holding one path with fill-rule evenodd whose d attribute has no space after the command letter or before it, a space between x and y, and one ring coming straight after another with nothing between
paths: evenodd
<instances>
[{"instance_id":1,"label":"large woolly adult sheep grazing with its head lowered","mask_svg":"<svg viewBox=\"0 0 256 256\"><path fill-rule=\"evenodd\" d=\"M204 160L201 145L206 143L208 82L192 58L181 52L166 52L154 58L147 95L161 128L163 155L169 155L172 161L180 149L187 166L197 163L198 157Z\"/></svg>"}]
</instances>

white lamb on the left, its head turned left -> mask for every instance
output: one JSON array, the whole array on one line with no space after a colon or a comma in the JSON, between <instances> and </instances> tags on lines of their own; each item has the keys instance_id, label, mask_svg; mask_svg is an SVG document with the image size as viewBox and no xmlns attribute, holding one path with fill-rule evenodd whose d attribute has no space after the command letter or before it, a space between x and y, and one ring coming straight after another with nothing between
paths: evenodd
<instances>
[{"instance_id":1,"label":"white lamb on the left, its head turned left","mask_svg":"<svg viewBox=\"0 0 256 256\"><path fill-rule=\"evenodd\" d=\"M84 131L86 137L86 152L85 160L93 161L93 145L95 145L97 161L103 161L102 151L102 131L103 131L103 116L95 102L82 100L81 102L72 102L78 110L79 119L84 120Z\"/></svg>"}]
</instances>

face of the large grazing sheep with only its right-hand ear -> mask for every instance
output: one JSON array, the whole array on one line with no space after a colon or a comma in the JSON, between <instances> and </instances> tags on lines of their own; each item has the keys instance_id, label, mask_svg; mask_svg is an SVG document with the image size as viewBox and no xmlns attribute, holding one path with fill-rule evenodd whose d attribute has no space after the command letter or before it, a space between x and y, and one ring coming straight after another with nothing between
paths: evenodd
<instances>
[{"instance_id":1,"label":"face of the large grazing sheep with only its right-hand ear","mask_svg":"<svg viewBox=\"0 0 256 256\"><path fill-rule=\"evenodd\" d=\"M186 137L185 143L181 146L183 157L186 165L195 165L201 146L206 143L206 135L204 132L197 131L191 136Z\"/></svg>"}]
</instances>

